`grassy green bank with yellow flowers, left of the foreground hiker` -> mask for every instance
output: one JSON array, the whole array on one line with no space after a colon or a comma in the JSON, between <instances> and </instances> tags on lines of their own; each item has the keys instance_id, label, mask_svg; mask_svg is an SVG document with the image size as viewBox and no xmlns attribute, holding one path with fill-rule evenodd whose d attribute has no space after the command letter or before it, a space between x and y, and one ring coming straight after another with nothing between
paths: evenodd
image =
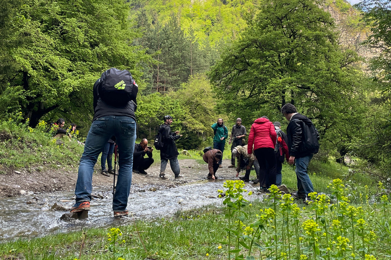
<instances>
[{"instance_id":1,"label":"grassy green bank with yellow flowers, left of the foreground hiker","mask_svg":"<svg viewBox=\"0 0 391 260\"><path fill-rule=\"evenodd\" d=\"M47 124L40 121L31 128L26 121L22 123L22 113L7 121L0 121L0 164L9 168L58 168L64 165L77 166L83 146L73 136L61 140L47 133ZM42 170L42 169L41 169Z\"/></svg>"}]
</instances>

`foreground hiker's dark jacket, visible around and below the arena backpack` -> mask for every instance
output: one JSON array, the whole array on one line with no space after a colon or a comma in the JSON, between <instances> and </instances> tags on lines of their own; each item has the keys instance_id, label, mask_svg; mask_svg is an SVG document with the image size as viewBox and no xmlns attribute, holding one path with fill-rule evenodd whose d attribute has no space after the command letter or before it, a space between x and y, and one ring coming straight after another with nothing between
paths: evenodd
<instances>
[{"instance_id":1,"label":"foreground hiker's dark jacket, visible around and below the arena backpack","mask_svg":"<svg viewBox=\"0 0 391 260\"><path fill-rule=\"evenodd\" d=\"M106 104L99 98L98 93L98 81L94 84L94 119L101 118L102 116L130 116L135 119L134 111L136 111L137 103L135 100L129 101L124 107L114 107ZM137 94L137 92L136 92Z\"/></svg>"}]
</instances>

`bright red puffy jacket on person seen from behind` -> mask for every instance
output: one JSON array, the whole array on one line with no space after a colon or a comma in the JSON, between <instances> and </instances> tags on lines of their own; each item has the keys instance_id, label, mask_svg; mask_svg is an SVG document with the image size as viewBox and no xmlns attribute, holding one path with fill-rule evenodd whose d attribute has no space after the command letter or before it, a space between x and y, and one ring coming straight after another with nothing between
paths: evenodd
<instances>
[{"instance_id":1,"label":"bright red puffy jacket on person seen from behind","mask_svg":"<svg viewBox=\"0 0 391 260\"><path fill-rule=\"evenodd\" d=\"M277 139L274 125L269 119L261 117L254 121L248 135L247 153L253 153L254 150L259 148L273 148Z\"/></svg>"}]
</instances>

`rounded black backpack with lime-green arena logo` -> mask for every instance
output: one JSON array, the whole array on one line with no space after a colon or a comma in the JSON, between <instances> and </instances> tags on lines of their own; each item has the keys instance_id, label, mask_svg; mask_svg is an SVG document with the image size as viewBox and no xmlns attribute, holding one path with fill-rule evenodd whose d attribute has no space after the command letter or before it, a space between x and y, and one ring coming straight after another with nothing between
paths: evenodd
<instances>
[{"instance_id":1,"label":"rounded black backpack with lime-green arena logo","mask_svg":"<svg viewBox=\"0 0 391 260\"><path fill-rule=\"evenodd\" d=\"M108 69L95 84L98 84L99 98L110 106L124 107L136 100L138 86L127 70Z\"/></svg>"}]
</instances>

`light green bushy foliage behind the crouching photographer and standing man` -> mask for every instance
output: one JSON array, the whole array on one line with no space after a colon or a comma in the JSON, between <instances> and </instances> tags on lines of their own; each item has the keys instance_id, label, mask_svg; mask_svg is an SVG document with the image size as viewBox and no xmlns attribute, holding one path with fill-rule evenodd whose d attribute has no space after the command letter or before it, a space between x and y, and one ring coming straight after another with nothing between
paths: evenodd
<instances>
[{"instance_id":1,"label":"light green bushy foliage behind the crouching photographer and standing man","mask_svg":"<svg viewBox=\"0 0 391 260\"><path fill-rule=\"evenodd\" d=\"M206 136L213 135L210 126L217 120L215 101L209 81L203 74L191 76L177 91L139 96L136 113L138 136L153 137L165 115L174 118L172 129L181 131L178 146L199 148Z\"/></svg>"}]
</instances>

